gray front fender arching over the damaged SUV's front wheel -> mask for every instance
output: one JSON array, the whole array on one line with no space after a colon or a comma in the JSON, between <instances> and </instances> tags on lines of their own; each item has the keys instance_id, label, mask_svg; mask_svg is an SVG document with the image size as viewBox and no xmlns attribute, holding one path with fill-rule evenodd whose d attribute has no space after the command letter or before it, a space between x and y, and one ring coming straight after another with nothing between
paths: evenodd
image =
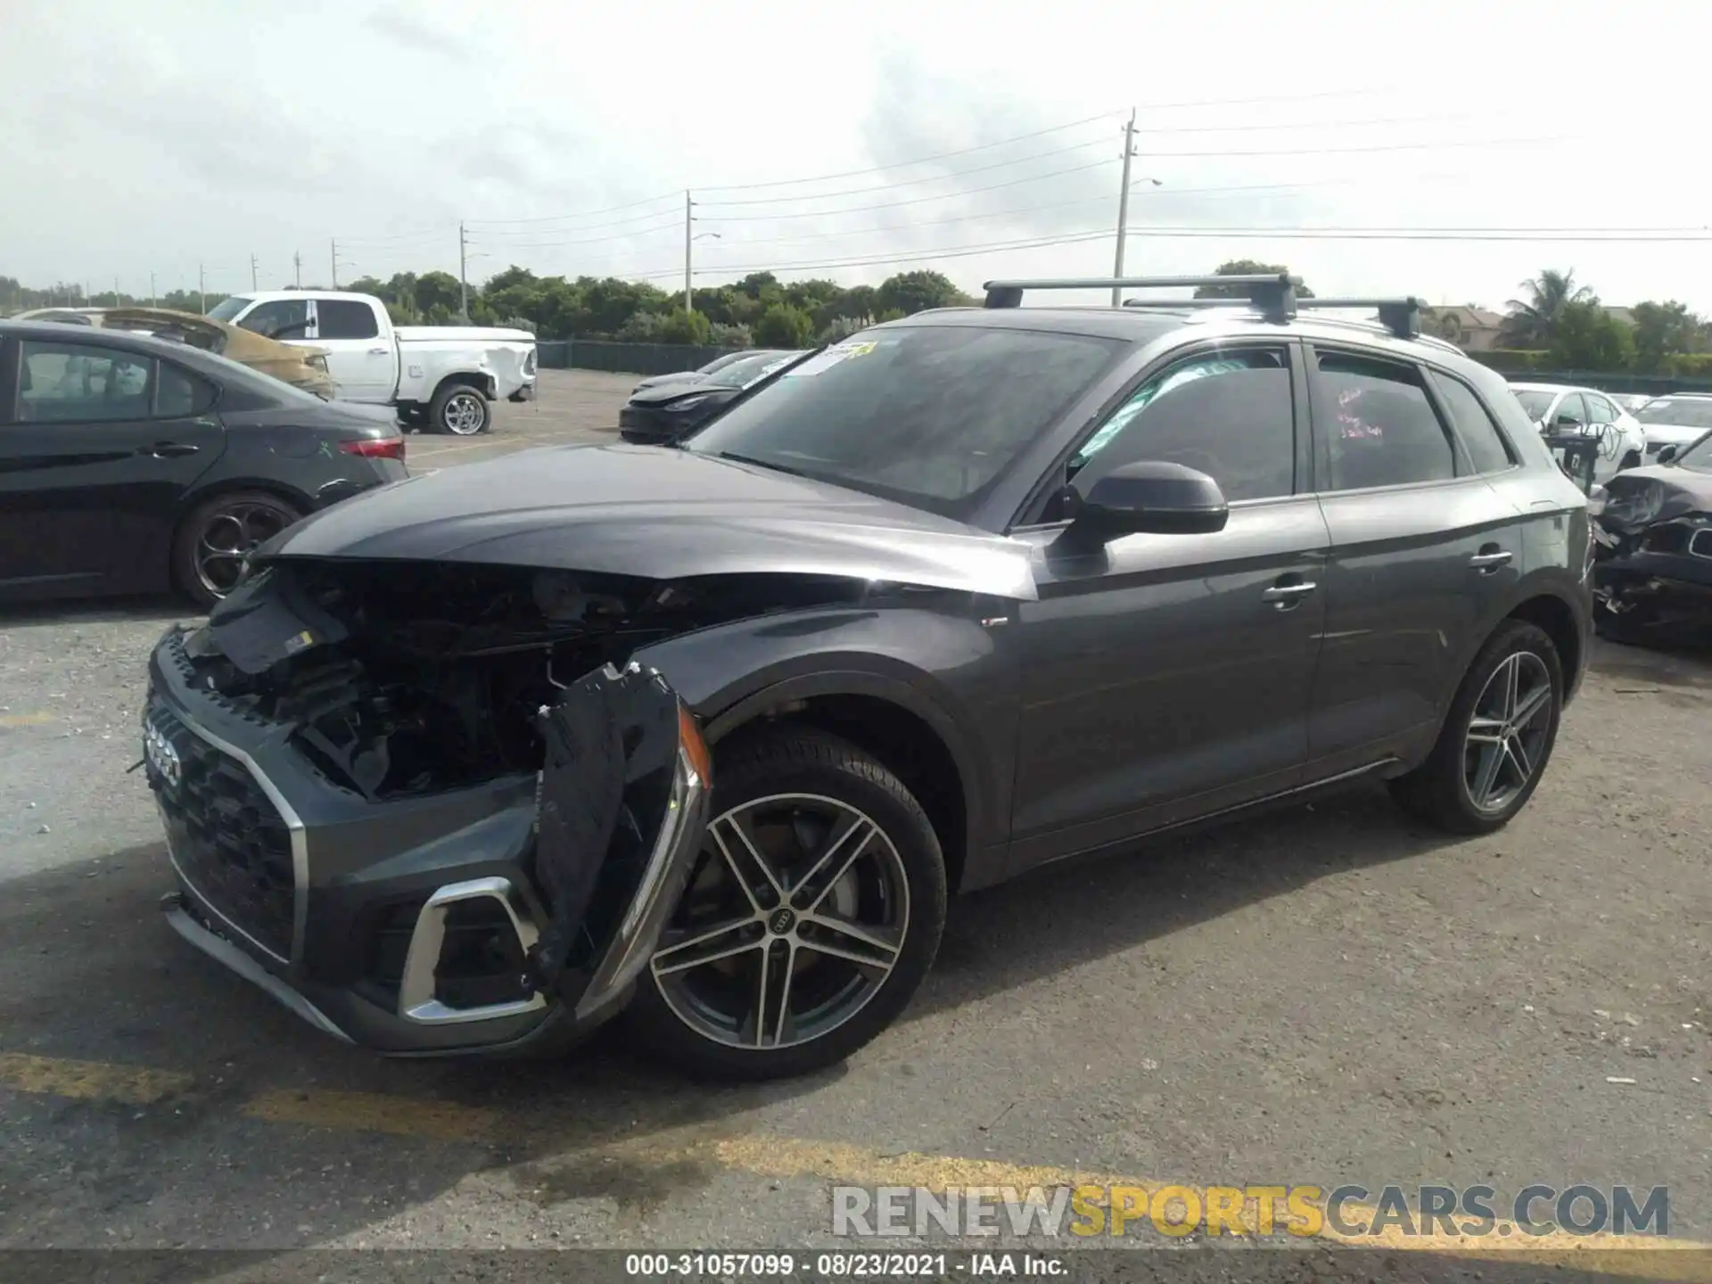
<instances>
[{"instance_id":1,"label":"gray front fender arching over the damaged SUV's front wheel","mask_svg":"<svg viewBox=\"0 0 1712 1284\"><path fill-rule=\"evenodd\" d=\"M1005 839L1017 743L1014 657L995 645L981 615L829 606L685 633L635 659L673 685L709 741L818 695L866 695L914 714L957 765L976 851Z\"/></svg>"}]
</instances>

